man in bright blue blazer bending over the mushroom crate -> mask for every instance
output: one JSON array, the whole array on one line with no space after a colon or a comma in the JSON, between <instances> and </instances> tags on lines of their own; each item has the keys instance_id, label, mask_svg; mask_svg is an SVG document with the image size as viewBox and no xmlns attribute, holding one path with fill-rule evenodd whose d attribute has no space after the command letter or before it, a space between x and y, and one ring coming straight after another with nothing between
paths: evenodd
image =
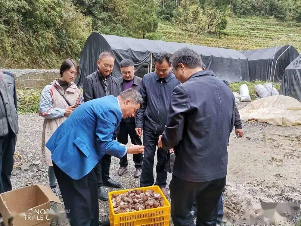
<instances>
[{"instance_id":1,"label":"man in bright blue blazer bending over the mushroom crate","mask_svg":"<svg viewBox=\"0 0 301 226\"><path fill-rule=\"evenodd\" d=\"M138 91L105 96L80 105L46 143L71 226L98 226L98 188L93 168L104 154L117 158L143 152L115 141L122 118L133 117L142 104ZM109 225L101 222L100 225Z\"/></svg>"}]
</instances>

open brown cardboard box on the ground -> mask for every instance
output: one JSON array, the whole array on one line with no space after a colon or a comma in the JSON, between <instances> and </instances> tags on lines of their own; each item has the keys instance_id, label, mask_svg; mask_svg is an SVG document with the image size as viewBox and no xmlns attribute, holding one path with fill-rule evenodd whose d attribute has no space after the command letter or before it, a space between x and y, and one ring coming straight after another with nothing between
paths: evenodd
<instances>
[{"instance_id":1,"label":"open brown cardboard box on the ground","mask_svg":"<svg viewBox=\"0 0 301 226\"><path fill-rule=\"evenodd\" d=\"M51 188L31 185L0 194L5 226L49 226L49 201L61 203Z\"/></svg>"}]
</instances>

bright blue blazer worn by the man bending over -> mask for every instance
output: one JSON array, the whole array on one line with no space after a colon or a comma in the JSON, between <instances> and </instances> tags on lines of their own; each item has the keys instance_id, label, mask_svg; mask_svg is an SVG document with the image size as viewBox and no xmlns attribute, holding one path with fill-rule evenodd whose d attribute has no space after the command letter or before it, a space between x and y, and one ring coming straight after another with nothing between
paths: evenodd
<instances>
[{"instance_id":1,"label":"bright blue blazer worn by the man bending over","mask_svg":"<svg viewBox=\"0 0 301 226\"><path fill-rule=\"evenodd\" d=\"M105 153L122 158L126 147L113 140L121 119L122 112L114 96L79 106L46 144L52 161L69 177L78 180L87 175ZM104 126L107 121L110 124ZM60 151L62 147L66 151Z\"/></svg>"}]
</instances>

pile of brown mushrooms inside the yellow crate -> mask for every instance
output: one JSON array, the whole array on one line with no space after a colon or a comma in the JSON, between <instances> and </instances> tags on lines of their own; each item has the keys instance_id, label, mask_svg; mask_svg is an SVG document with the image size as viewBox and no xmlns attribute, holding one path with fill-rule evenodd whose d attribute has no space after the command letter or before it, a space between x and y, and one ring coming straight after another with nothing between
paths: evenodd
<instances>
[{"instance_id":1,"label":"pile of brown mushrooms inside the yellow crate","mask_svg":"<svg viewBox=\"0 0 301 226\"><path fill-rule=\"evenodd\" d=\"M133 212L143 209L152 209L163 206L163 198L159 193L150 189L128 190L126 193L112 195L112 205L115 213Z\"/></svg>"}]
</instances>

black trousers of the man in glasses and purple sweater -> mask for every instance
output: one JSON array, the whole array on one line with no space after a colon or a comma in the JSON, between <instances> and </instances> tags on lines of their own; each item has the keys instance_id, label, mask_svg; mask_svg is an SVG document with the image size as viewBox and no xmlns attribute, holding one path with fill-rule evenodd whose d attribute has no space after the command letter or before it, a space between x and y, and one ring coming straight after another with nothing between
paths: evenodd
<instances>
[{"instance_id":1,"label":"black trousers of the man in glasses and purple sweater","mask_svg":"<svg viewBox=\"0 0 301 226\"><path fill-rule=\"evenodd\" d=\"M121 122L119 126L119 133L117 135L118 142L122 144L127 144L128 137L130 135L132 144L142 145L142 141L137 135L135 128L136 128L135 122ZM136 169L142 169L143 154L142 153L134 154L133 161L135 162ZM120 159L119 165L121 167L127 167L129 165L127 154Z\"/></svg>"}]
</instances>

